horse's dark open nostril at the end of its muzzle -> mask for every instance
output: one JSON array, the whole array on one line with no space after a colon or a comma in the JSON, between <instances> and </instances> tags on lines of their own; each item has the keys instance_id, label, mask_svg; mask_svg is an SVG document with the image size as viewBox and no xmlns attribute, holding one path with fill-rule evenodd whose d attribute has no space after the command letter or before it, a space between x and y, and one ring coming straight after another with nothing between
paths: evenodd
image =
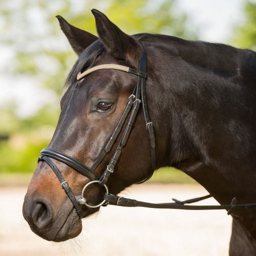
<instances>
[{"instance_id":1,"label":"horse's dark open nostril at the end of its muzzle","mask_svg":"<svg viewBox=\"0 0 256 256\"><path fill-rule=\"evenodd\" d=\"M52 220L52 208L47 202L36 202L32 210L32 221L38 228L49 226Z\"/></svg>"}]
</instances>

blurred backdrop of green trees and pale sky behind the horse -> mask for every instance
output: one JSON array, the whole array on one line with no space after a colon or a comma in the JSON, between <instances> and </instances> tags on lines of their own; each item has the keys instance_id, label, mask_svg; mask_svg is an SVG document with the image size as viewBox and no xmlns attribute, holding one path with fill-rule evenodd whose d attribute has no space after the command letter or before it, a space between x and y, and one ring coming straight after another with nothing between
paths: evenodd
<instances>
[{"instance_id":1,"label":"blurred backdrop of green trees and pale sky behind the horse","mask_svg":"<svg viewBox=\"0 0 256 256\"><path fill-rule=\"evenodd\" d=\"M128 34L161 33L256 50L256 1L0 0L2 189L22 187L20 193L25 195L39 153L54 133L64 93L61 88L77 59L55 16L96 34L93 8ZM196 183L179 170L167 168L151 182ZM0 207L4 208L1 202Z\"/></svg>"}]
</instances>

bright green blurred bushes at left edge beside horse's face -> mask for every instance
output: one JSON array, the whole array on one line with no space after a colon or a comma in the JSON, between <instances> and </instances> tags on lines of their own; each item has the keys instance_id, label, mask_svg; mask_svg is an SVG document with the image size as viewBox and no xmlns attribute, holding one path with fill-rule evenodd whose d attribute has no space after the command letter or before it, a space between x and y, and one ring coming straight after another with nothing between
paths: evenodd
<instances>
[{"instance_id":1,"label":"bright green blurred bushes at left edge beside horse's face","mask_svg":"<svg viewBox=\"0 0 256 256\"><path fill-rule=\"evenodd\" d=\"M33 172L40 151L53 136L59 111L45 106L35 116L23 120L10 109L3 112L1 115L0 111L5 121L1 132L9 139L0 140L0 173Z\"/></svg>"}]
</instances>

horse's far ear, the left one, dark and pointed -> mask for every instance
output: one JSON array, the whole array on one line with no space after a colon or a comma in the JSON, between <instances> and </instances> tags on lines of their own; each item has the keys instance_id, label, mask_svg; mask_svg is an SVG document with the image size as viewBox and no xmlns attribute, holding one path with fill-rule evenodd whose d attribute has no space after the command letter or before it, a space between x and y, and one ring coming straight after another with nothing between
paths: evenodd
<instances>
[{"instance_id":1,"label":"horse's far ear, the left one, dark and pointed","mask_svg":"<svg viewBox=\"0 0 256 256\"><path fill-rule=\"evenodd\" d=\"M67 36L70 45L78 56L98 39L97 36L70 25L60 15L57 15L56 18L58 18L61 30Z\"/></svg>"}]
</instances>

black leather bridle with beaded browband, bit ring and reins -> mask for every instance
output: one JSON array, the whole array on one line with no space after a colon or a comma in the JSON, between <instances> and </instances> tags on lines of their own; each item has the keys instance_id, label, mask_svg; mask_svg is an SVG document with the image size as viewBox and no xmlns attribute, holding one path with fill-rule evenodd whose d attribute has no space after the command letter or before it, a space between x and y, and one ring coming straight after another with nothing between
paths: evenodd
<instances>
[{"instance_id":1,"label":"black leather bridle with beaded browband, bit ring and reins","mask_svg":"<svg viewBox=\"0 0 256 256\"><path fill-rule=\"evenodd\" d=\"M142 48L143 49L143 48ZM132 130L132 126L135 120L135 117L137 115L137 112L139 110L139 106L140 103L142 103L143 105L143 112L144 112L144 117L145 117L145 121L146 121L146 130L148 132L148 138L150 140L150 150L151 150L151 161L152 161L152 167L151 167L151 173L150 175L148 175L148 177L146 179L144 179L143 181L141 181L140 183L143 183L147 180L149 180L155 170L155 166L156 166L156 156L155 156L155 136L154 136L154 130L153 130L153 123L150 121L150 117L148 115L148 110L147 110L147 104L146 104L146 96L145 96L145 80L146 80L146 55L144 52L144 49L142 51L142 56L140 58L139 61L139 69L134 70L131 69L129 67L125 67L125 66L121 66L121 65L115 65L115 64L105 64L105 65L99 65L96 67L93 67L87 71L84 71L83 73L79 72L77 75L77 80L82 79L83 77L89 75L90 73L96 71L96 70L100 70L100 69L116 69L116 70L121 70L124 72L128 72L128 73L132 73L134 75L138 76L138 82L137 85L132 93L132 95L128 98L127 104L125 106L124 112L115 128L115 131L113 132L112 136L109 139L109 142L106 144L106 146L104 147L104 150L101 152L101 154L99 155L99 157L96 159L96 161L93 163L93 165L91 167L88 167L86 165L84 165L83 163L77 161L76 159L63 154L59 151L56 150L52 150L51 148L44 148L44 150L42 150L40 152L40 156L38 158L38 162L39 161L46 161L49 166L53 169L54 173L56 174L57 178L59 179L60 183L61 183L61 187L65 190L65 192L67 193L68 197L70 198L71 202L73 203L77 214L79 215L79 217L82 219L83 214L82 214L82 209L80 207L80 204L85 204L88 207L91 208L96 208L96 207L100 207L102 206L106 206L108 204L112 204L112 205L119 205L119 206L129 206L129 207L148 207L148 208L168 208L168 209L185 209L185 210L214 210L214 209L226 209L228 210L228 215L231 214L231 212L236 208L236 209L241 209L241 208L255 208L256 207L256 203L253 204L240 204L240 205L236 205L236 198L233 198L231 205L207 205L207 206L202 206L202 205L184 205L184 204L188 204L188 203L194 203L194 202L198 202L201 201L203 199L207 199L209 197L211 197L210 195L205 196L205 197L201 197L201 198L195 198L195 199L190 199L190 200L186 200L186 201L179 201L176 199L173 199L173 201L175 201L175 203L162 203L162 204L153 204L153 203L145 203L145 202L140 202L137 200L133 200L133 199L128 199L128 198L123 198L123 197L119 197L119 196L115 196L112 194L109 194L109 190L108 187L106 187L105 183L108 180L108 178L110 177L110 175L114 172L114 167L117 163L117 160L121 154L122 148L125 145L129 134ZM140 99L141 96L141 99ZM131 111L132 110L132 111ZM113 155L110 163L108 164L108 166L106 166L106 169L103 173L103 175L101 177L99 177L96 173L95 173L95 168L99 165L99 163L103 160L104 156L106 155L106 153L108 153L118 134L120 133L123 123L126 119L126 117L128 116L129 112L131 111L131 115L129 118L129 121L127 122L127 125L125 127L125 130L123 132L122 138L116 148L116 152ZM69 184L67 181L64 180L64 178L62 177L62 175L60 174L58 168L55 166L55 164L50 160L50 158L54 158L60 162L66 163L69 166L73 167L74 169L76 169L79 173L81 173L82 175L86 176L87 178L89 178L91 180L91 182L87 183L84 188L82 189L82 193L81 193L81 198L76 200L74 194L71 191L71 188L69 187ZM86 198L84 198L84 190L87 188L87 186L89 186L91 183L96 183L96 185L100 188L100 190L103 193L103 198L104 200L95 206L92 205L88 205Z\"/></svg>"}]
</instances>

